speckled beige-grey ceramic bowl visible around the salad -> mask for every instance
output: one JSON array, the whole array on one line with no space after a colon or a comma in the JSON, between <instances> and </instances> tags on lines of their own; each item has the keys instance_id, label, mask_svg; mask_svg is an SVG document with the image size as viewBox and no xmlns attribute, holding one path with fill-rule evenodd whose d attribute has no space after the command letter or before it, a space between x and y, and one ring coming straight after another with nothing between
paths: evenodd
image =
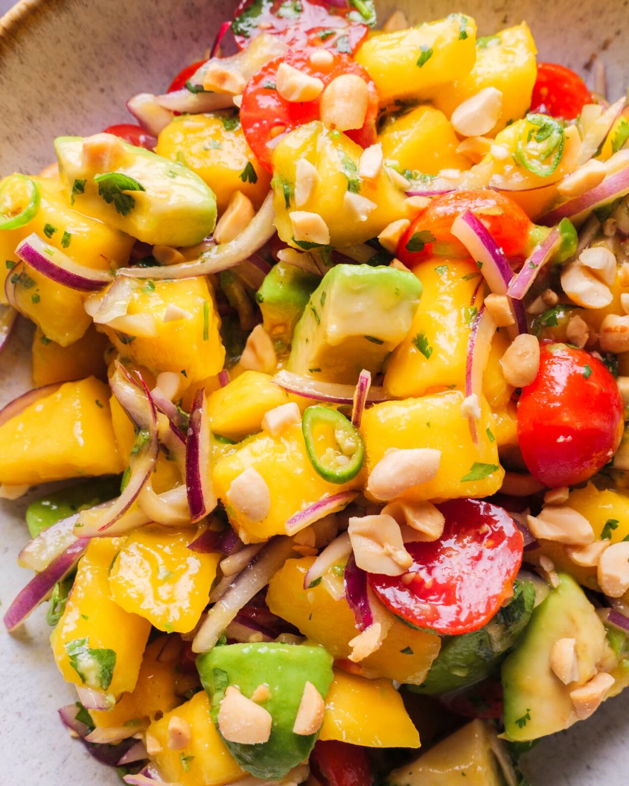
<instances>
[{"instance_id":1,"label":"speckled beige-grey ceramic bowl visible around the salad","mask_svg":"<svg viewBox=\"0 0 629 786\"><path fill-rule=\"evenodd\" d=\"M6 0L5 7L6 7ZM164 90L183 65L202 57L235 2L219 0L23 0L0 20L0 175L39 171L53 160L53 138L131 122L127 98ZM558 61L592 81L600 56L609 95L629 81L624 30L627 0L400 0L377 2L384 20L395 7L413 22L471 13L480 35L525 19L542 60ZM0 0L0 8L3 2ZM0 358L0 404L31 387L30 331L21 325ZM35 492L35 496L37 492ZM7 607L29 578L16 556L28 539L28 498L0 506L0 600ZM48 646L39 609L13 637L0 631L0 784L108 786L116 773L68 736L57 708L75 700ZM534 786L620 786L629 770L624 696L594 718L543 740L524 764ZM357 710L358 711L358 710Z\"/></svg>"}]
</instances>

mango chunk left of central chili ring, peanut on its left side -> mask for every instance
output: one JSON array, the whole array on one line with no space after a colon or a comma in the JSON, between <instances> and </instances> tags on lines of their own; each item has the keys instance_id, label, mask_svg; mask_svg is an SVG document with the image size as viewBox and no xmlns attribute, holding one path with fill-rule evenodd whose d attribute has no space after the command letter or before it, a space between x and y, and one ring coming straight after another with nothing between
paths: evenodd
<instances>
[{"instance_id":1,"label":"mango chunk left of central chili ring, peanut on its left side","mask_svg":"<svg viewBox=\"0 0 629 786\"><path fill-rule=\"evenodd\" d=\"M252 521L237 511L227 497L231 483L249 467L255 468L270 491L270 511ZM246 439L234 452L220 457L213 471L214 490L223 501L231 523L245 542L260 542L286 534L286 521L324 497L359 489L360 474L349 483L329 483L314 471L306 452L301 424L291 424L278 436L267 432Z\"/></svg>"}]
</instances>

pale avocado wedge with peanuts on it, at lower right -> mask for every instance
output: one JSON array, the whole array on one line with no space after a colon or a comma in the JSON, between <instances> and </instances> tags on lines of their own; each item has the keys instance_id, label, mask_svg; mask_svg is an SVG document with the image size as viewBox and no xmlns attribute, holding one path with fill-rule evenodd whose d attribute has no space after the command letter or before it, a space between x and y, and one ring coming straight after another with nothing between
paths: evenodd
<instances>
[{"instance_id":1,"label":"pale avocado wedge with peanuts on it, at lower right","mask_svg":"<svg viewBox=\"0 0 629 786\"><path fill-rule=\"evenodd\" d=\"M568 685L550 669L550 651L560 638L576 639L579 679ZM573 578L560 574L559 585L535 608L520 643L502 663L506 739L524 742L568 729L577 721L570 692L611 655L594 606Z\"/></svg>"}]
</instances>

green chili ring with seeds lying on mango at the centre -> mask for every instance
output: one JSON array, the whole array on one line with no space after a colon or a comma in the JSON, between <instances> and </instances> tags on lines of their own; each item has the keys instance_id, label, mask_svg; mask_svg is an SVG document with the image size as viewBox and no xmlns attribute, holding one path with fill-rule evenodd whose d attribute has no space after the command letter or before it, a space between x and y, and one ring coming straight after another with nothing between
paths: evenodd
<instances>
[{"instance_id":1,"label":"green chili ring with seeds lying on mango at the centre","mask_svg":"<svg viewBox=\"0 0 629 786\"><path fill-rule=\"evenodd\" d=\"M309 406L301 424L312 466L329 483L348 483L360 472L365 446L347 417L327 406Z\"/></svg>"}]
</instances>

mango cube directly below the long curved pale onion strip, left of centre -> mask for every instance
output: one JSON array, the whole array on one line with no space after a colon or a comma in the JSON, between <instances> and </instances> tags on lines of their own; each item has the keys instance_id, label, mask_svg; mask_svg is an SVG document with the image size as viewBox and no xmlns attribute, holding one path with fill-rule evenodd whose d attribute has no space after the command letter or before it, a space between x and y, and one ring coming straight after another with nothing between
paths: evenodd
<instances>
[{"instance_id":1,"label":"mango cube directly below the long curved pale onion strip, left of centre","mask_svg":"<svg viewBox=\"0 0 629 786\"><path fill-rule=\"evenodd\" d=\"M169 305L187 316L164 321ZM204 277L144 284L131 293L127 314L153 316L157 330L153 338L136 337L130 341L129 336L102 326L114 347L134 365L143 365L154 374L185 371L190 382L223 369L225 349L219 334L220 319Z\"/></svg>"}]
</instances>

